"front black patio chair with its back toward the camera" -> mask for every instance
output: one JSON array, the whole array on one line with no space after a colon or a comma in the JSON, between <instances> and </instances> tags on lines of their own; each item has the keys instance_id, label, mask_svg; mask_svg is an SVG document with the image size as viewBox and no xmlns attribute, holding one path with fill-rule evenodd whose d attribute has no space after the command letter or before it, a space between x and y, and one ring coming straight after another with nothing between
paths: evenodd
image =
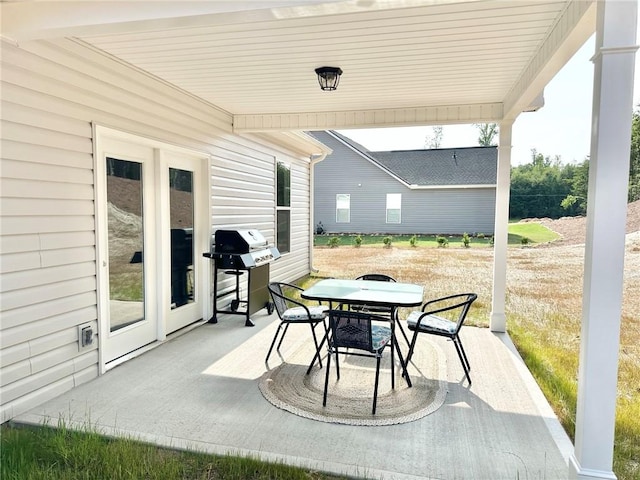
<instances>
[{"instance_id":1,"label":"front black patio chair with its back toward the camera","mask_svg":"<svg viewBox=\"0 0 640 480\"><path fill-rule=\"evenodd\" d=\"M371 413L375 415L378 400L378 380L380 378L380 360L387 345L391 345L391 329L372 322L385 319L369 313L353 312L350 310L331 310L329 312L330 336L328 340L329 354L327 355L327 371L325 373L324 395L322 405L327 405L329 389L329 370L331 355L336 357L336 374L340 380L340 354L372 357L376 359L376 376L373 387L373 407ZM346 349L349 349L348 351ZM359 350L359 351L354 351ZM366 353L363 353L366 352ZM393 347L391 347L391 379L394 386Z\"/></svg>"}]
</instances>

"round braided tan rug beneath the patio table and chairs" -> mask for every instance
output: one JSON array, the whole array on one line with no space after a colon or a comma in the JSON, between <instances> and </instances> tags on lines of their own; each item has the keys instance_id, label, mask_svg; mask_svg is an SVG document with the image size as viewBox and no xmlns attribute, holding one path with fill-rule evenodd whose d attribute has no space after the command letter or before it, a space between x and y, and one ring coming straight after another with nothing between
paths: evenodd
<instances>
[{"instance_id":1,"label":"round braided tan rug beneath the patio table and chairs","mask_svg":"<svg viewBox=\"0 0 640 480\"><path fill-rule=\"evenodd\" d=\"M293 355L260 378L260 391L274 406L301 417L346 425L395 425L412 422L435 412L444 403L447 387L446 360L442 350L428 339L416 346L409 365L413 387L401 376L396 358L395 389L391 388L390 351L380 365L380 384L376 414L371 414L375 381L375 358L340 355L340 380L336 377L335 355L331 359L327 405L322 406L326 374L313 368L306 375L313 357L313 344L305 343Z\"/></svg>"}]
</instances>

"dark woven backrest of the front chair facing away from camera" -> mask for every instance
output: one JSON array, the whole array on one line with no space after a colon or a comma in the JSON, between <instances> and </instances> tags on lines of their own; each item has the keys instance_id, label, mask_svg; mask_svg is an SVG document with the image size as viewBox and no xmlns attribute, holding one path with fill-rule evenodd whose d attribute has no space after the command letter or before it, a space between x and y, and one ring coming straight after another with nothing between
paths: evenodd
<instances>
[{"instance_id":1,"label":"dark woven backrest of the front chair facing away from camera","mask_svg":"<svg viewBox=\"0 0 640 480\"><path fill-rule=\"evenodd\" d=\"M350 310L331 310L331 344L334 347L373 351L372 316Z\"/></svg>"}]
</instances>

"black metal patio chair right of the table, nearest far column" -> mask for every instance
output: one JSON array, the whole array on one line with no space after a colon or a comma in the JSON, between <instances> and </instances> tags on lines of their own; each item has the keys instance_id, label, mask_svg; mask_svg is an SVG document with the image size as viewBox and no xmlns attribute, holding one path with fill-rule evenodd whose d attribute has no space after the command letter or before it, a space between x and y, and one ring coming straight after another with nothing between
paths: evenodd
<instances>
[{"instance_id":1,"label":"black metal patio chair right of the table, nearest far column","mask_svg":"<svg viewBox=\"0 0 640 480\"><path fill-rule=\"evenodd\" d=\"M422 305L422 309L414 311L407 317L407 327L413 332L407 364L411 361L419 333L447 337L453 341L460 358L464 374L471 385L469 371L471 365L460 340L460 329L467 318L471 304L478 298L475 293L460 293L430 300ZM446 317L450 317L446 318Z\"/></svg>"}]
</instances>

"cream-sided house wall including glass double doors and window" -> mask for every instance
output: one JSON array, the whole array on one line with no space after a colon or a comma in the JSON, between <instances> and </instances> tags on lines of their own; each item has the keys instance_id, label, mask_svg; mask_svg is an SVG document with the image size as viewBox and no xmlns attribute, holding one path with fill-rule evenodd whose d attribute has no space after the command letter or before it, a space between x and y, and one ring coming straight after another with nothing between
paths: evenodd
<instances>
[{"instance_id":1,"label":"cream-sided house wall including glass double doors and window","mask_svg":"<svg viewBox=\"0 0 640 480\"><path fill-rule=\"evenodd\" d=\"M274 280L309 272L317 141L233 134L228 113L71 39L2 41L2 57L0 422L208 319L217 229L277 243Z\"/></svg>"}]
</instances>

